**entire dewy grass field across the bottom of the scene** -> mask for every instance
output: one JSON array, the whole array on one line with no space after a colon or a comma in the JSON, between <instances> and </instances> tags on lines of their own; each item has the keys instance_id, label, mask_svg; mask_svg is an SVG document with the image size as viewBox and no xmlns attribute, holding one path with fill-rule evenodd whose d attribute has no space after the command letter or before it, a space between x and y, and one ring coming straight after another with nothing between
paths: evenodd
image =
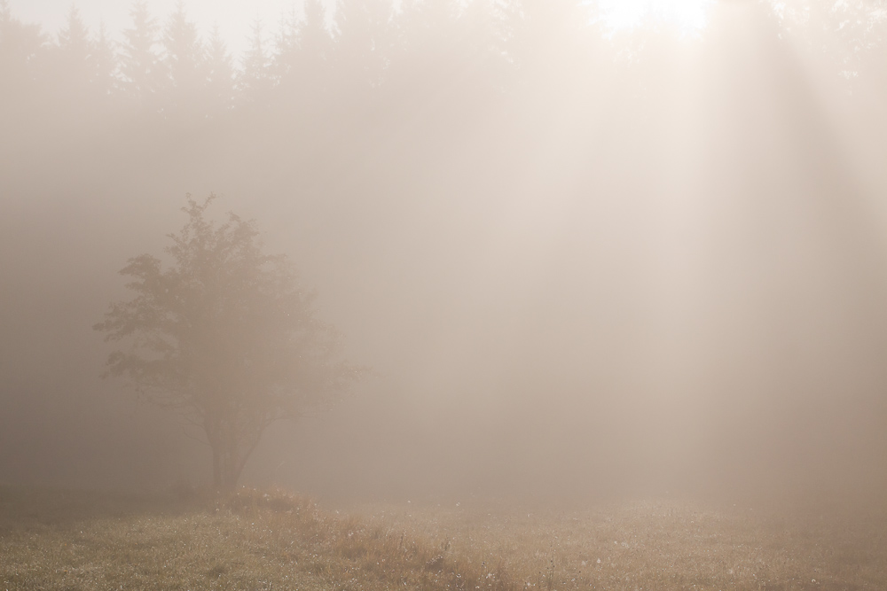
<instances>
[{"instance_id":1,"label":"entire dewy grass field across the bottom of the scene","mask_svg":"<svg viewBox=\"0 0 887 591\"><path fill-rule=\"evenodd\" d=\"M0 487L8 589L887 589L887 518L622 502L320 509Z\"/></svg>"}]
</instances>

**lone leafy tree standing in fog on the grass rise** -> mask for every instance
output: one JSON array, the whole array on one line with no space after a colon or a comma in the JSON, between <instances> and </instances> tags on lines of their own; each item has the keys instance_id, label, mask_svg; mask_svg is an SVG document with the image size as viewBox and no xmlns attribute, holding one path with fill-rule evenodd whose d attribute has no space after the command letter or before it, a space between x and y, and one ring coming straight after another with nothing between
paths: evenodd
<instances>
[{"instance_id":1,"label":"lone leafy tree standing in fog on the grass rise","mask_svg":"<svg viewBox=\"0 0 887 591\"><path fill-rule=\"evenodd\" d=\"M173 266L130 259L120 273L135 297L93 328L130 343L108 356L106 375L200 426L227 492L271 423L325 407L364 370L338 361L337 331L315 316L287 257L262 252L255 222L208 221L214 199L188 196L188 222L165 249Z\"/></svg>"}]
</instances>

